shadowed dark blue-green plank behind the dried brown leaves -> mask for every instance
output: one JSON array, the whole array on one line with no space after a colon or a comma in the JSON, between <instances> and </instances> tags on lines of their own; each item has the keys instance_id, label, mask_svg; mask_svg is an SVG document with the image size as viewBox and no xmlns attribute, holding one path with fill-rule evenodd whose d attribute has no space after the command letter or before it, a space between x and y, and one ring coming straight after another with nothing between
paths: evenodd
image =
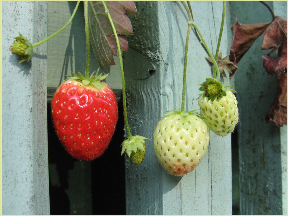
<instances>
[{"instance_id":1,"label":"shadowed dark blue-green plank behind the dried brown leaves","mask_svg":"<svg viewBox=\"0 0 288 216\"><path fill-rule=\"evenodd\" d=\"M266 2L273 8L271 2ZM245 10L243 10L245 8ZM259 2L230 2L231 14L240 23L272 20ZM231 23L235 23L231 16ZM280 129L266 124L265 115L276 93L276 78L262 66L260 36L238 63L235 90L240 113L238 146L240 214L282 214Z\"/></svg>"}]
</instances>

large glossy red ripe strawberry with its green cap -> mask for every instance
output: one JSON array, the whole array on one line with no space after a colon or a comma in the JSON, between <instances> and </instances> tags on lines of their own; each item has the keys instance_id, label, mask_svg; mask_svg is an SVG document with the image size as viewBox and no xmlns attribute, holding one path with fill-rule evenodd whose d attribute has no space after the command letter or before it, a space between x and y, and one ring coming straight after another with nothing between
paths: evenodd
<instances>
[{"instance_id":1,"label":"large glossy red ripe strawberry with its green cap","mask_svg":"<svg viewBox=\"0 0 288 216\"><path fill-rule=\"evenodd\" d=\"M100 81L107 76L87 80L80 73L74 75L52 98L52 121L69 154L79 160L93 160L103 154L115 131L117 101L111 87Z\"/></svg>"}]
</instances>

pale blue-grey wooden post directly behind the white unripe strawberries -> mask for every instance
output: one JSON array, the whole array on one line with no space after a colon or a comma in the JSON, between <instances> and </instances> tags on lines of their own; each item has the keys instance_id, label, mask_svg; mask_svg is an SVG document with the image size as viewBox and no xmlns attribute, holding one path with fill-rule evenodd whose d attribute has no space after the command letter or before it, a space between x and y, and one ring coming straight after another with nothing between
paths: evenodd
<instances>
[{"instance_id":1,"label":"pale blue-grey wooden post directly behind the white unripe strawberries","mask_svg":"<svg viewBox=\"0 0 288 216\"><path fill-rule=\"evenodd\" d=\"M222 3L191 2L191 5L198 28L215 52ZM127 214L231 214L230 135L219 137L210 132L211 141L206 156L192 173L182 178L166 173L156 159L152 142L156 124L166 111L181 108L187 15L180 2L150 5L137 2L136 6L138 13L131 18L134 39L128 41L133 49L124 53L128 116L132 134L143 135L151 141L147 141L147 156L143 164L135 167L126 161ZM140 18L143 19L141 34L138 34L137 20ZM221 44L224 56L227 50L226 32L225 27ZM186 111L199 109L200 83L211 77L210 66L204 58L207 55L192 31L188 51ZM224 82L228 82L227 77Z\"/></svg>"}]
</instances>

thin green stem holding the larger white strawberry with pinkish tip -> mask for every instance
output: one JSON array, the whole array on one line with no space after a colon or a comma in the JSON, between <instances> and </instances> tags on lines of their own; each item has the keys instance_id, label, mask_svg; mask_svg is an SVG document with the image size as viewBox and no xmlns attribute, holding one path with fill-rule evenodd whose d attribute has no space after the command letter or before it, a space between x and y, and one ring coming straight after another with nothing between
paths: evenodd
<instances>
[{"instance_id":1,"label":"thin green stem holding the larger white strawberry with pinkish tip","mask_svg":"<svg viewBox=\"0 0 288 216\"><path fill-rule=\"evenodd\" d=\"M186 72L187 72L187 55L188 55L188 43L189 43L189 37L190 37L190 30L192 26L192 15L189 11L189 8L187 5L181 1L183 6L185 7L187 14L188 14L188 30L187 30L187 36L186 36L186 42L185 42L185 54L184 54L184 72L183 72L183 87L182 87L182 103L181 103L181 112L185 111L185 92L186 92Z\"/></svg>"}]
</instances>

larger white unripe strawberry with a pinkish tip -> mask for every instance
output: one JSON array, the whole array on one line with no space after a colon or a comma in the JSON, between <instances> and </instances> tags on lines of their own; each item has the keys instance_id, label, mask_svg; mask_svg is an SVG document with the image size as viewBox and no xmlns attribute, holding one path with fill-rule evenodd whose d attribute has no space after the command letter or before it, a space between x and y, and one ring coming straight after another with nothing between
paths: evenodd
<instances>
[{"instance_id":1,"label":"larger white unripe strawberry with a pinkish tip","mask_svg":"<svg viewBox=\"0 0 288 216\"><path fill-rule=\"evenodd\" d=\"M162 167L181 176L199 165L209 144L209 129L199 114L174 111L157 124L153 147Z\"/></svg>"}]
</instances>

